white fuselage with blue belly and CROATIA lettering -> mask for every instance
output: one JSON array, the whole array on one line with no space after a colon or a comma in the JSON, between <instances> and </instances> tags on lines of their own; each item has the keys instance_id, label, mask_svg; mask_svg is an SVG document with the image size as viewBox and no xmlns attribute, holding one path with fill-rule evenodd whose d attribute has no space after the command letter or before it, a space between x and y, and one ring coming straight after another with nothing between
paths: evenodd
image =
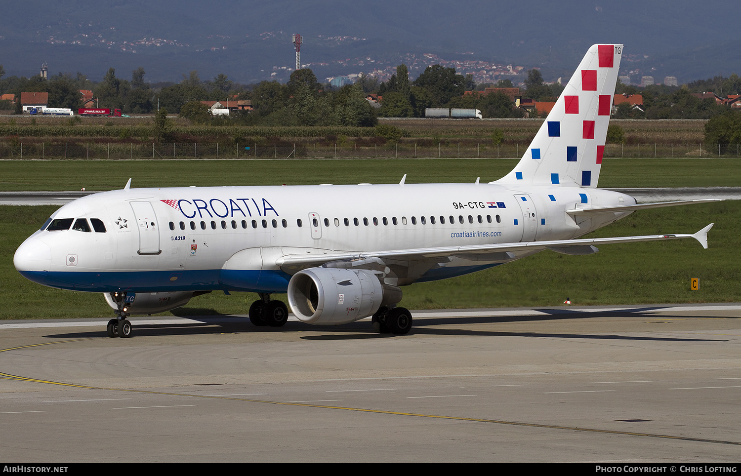
<instances>
[{"instance_id":1,"label":"white fuselage with blue belly and CROATIA lettering","mask_svg":"<svg viewBox=\"0 0 741 476\"><path fill-rule=\"evenodd\" d=\"M52 218L73 225L34 233L14 262L30 280L62 289L285 292L290 274L276 265L285 255L565 240L630 213L582 221L565 210L634 203L606 190L500 184L116 190L64 205ZM89 231L77 226L80 218ZM445 267L393 284L449 278L532 253L453 256Z\"/></svg>"}]
</instances>

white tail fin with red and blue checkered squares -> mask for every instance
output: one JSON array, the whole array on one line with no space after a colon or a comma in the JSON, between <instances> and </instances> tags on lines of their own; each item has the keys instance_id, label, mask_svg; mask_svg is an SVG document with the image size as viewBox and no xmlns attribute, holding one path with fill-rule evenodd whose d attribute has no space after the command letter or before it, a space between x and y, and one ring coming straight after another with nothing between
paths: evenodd
<instances>
[{"instance_id":1,"label":"white tail fin with red and blue checkered squares","mask_svg":"<svg viewBox=\"0 0 741 476\"><path fill-rule=\"evenodd\" d=\"M593 44L505 184L597 187L622 44Z\"/></svg>"}]
</instances>

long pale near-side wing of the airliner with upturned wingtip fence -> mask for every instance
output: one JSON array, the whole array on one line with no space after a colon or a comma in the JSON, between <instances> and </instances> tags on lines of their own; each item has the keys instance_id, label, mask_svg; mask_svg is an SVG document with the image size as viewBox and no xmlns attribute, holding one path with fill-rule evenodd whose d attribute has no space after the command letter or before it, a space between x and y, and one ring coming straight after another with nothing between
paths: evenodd
<instances>
[{"instance_id":1,"label":"long pale near-side wing of the airliner with upturned wingtip fence","mask_svg":"<svg viewBox=\"0 0 741 476\"><path fill-rule=\"evenodd\" d=\"M337 252L327 254L285 255L276 260L276 264L286 271L305 269L307 267L322 266L333 261L355 260L357 258L380 258L393 261L431 261L440 258L465 258L472 261L508 261L516 258L514 252L542 251L552 249L565 254L588 254L589 247L601 244L632 243L637 241L676 240L679 238L694 238L703 248L708 247L708 231L714 224L709 224L692 235L643 235L620 236L614 238L585 238L572 240L527 241L502 244L481 244L464 247L436 247L417 249L391 249L375 252ZM348 267L351 267L348 264ZM295 271L294 271L295 272Z\"/></svg>"}]
</instances>

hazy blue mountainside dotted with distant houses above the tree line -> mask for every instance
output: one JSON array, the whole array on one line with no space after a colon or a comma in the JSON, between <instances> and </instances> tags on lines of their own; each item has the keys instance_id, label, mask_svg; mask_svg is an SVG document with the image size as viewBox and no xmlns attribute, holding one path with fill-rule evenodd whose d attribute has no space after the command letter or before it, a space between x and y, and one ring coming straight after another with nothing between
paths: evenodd
<instances>
[{"instance_id":1,"label":"hazy blue mountainside dotted with distant houses above the tree line","mask_svg":"<svg viewBox=\"0 0 741 476\"><path fill-rule=\"evenodd\" d=\"M0 64L7 76L38 74L47 62L50 74L79 71L94 81L109 67L129 78L139 66L153 82L180 81L191 70L202 79L285 81L291 35L301 33L302 63L320 79L410 58L423 67L425 53L568 78L589 45L622 42L621 74L685 82L741 73L740 30L719 21L735 10L730 0L26 0L3 7Z\"/></svg>"}]
</instances>

